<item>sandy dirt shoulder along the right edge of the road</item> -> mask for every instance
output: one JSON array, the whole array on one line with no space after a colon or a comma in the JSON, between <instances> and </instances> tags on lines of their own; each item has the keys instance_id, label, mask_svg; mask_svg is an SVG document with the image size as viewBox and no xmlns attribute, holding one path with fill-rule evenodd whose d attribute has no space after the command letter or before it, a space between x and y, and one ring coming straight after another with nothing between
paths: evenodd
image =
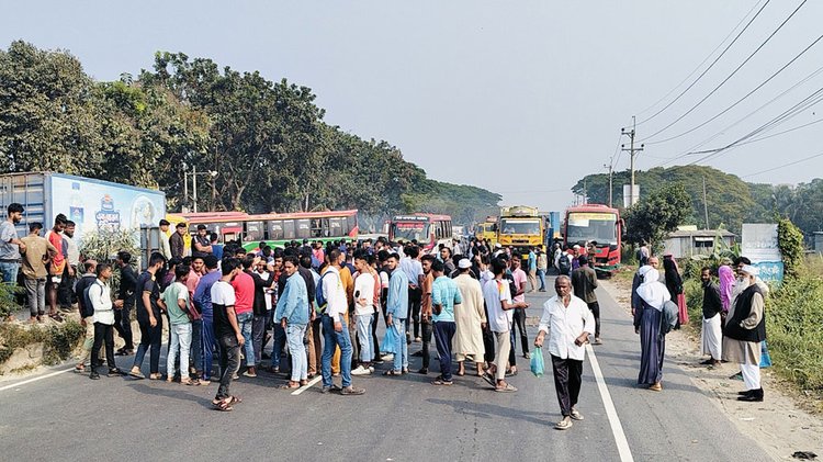
<instances>
[{"instance_id":1,"label":"sandy dirt shoulder along the right edge of the road","mask_svg":"<svg viewBox=\"0 0 823 462\"><path fill-rule=\"evenodd\" d=\"M615 301L631 315L631 283L599 281ZM775 460L792 459L796 451L812 451L823 458L823 419L802 409L804 396L792 392L769 369L763 369L763 403L736 401L743 382L731 380L736 364L700 365L700 333L676 330L666 336L666 363L679 367L691 382L742 432L749 435ZM718 436L722 438L722 435Z\"/></svg>"}]
</instances>

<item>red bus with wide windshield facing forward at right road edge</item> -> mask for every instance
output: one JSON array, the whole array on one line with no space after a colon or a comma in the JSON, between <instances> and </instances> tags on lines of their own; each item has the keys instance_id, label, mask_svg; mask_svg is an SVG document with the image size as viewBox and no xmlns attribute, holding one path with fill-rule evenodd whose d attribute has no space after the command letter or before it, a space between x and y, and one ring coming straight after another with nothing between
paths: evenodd
<instances>
[{"instance_id":1,"label":"red bus with wide windshield facing forward at right road edge","mask_svg":"<svg viewBox=\"0 0 823 462\"><path fill-rule=\"evenodd\" d=\"M568 207L563 221L563 243L570 247L588 245L593 268L610 274L620 266L624 226L617 209L601 204Z\"/></svg>"}]
</instances>

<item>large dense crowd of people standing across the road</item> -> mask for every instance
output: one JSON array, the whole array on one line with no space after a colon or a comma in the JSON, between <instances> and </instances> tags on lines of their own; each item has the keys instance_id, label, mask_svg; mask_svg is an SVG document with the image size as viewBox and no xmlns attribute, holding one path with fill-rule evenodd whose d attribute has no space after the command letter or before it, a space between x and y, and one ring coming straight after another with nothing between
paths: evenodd
<instances>
[{"instance_id":1,"label":"large dense crowd of people standing across the road","mask_svg":"<svg viewBox=\"0 0 823 462\"><path fill-rule=\"evenodd\" d=\"M375 365L386 362L384 375L407 374L409 346L420 343L416 373L428 374L433 337L441 364L433 385L452 385L453 374L469 372L469 362L496 392L517 391L507 379L518 373L517 330L522 357L530 358L525 294L545 290L542 249L530 249L521 261L511 249L473 239L424 255L415 241L381 238L292 241L285 248L260 243L247 251L237 243L216 244L204 226L185 246L187 232L178 225L142 274L125 251L113 264L81 262L75 292L87 338L78 372L100 379L104 348L109 375L201 386L218 381L213 404L232 410L240 402L230 393L233 380L257 378L261 370L286 374L283 388L306 386L319 375L324 393L359 395L365 391L354 386L352 376L375 373ZM120 273L116 293L110 289L113 271ZM582 290L593 293L596 278L584 274L586 268L578 272ZM566 282L571 292L572 280ZM583 306L591 313L589 305ZM140 330L137 345L132 312ZM124 341L116 351L115 333ZM129 367L121 369L117 357L132 354ZM148 374L143 370L146 356Z\"/></svg>"}]
</instances>

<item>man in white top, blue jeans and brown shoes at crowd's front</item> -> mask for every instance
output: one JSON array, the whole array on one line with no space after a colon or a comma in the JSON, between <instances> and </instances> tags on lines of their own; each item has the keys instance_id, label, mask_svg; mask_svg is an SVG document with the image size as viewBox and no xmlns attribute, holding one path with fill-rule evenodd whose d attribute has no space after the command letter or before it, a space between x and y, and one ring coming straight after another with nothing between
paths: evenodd
<instances>
[{"instance_id":1,"label":"man in white top, blue jeans and brown shoes at crowd's front","mask_svg":"<svg viewBox=\"0 0 823 462\"><path fill-rule=\"evenodd\" d=\"M349 329L343 319L343 313L349 308L346 298L346 289L340 280L340 250L332 249L326 256L330 262L323 278L323 294L326 298L326 308L323 313L323 393L340 391L342 395L362 395L363 388L351 386L351 338ZM335 356L335 347L340 347L340 375L342 375L342 388L331 381L331 357Z\"/></svg>"}]
</instances>

